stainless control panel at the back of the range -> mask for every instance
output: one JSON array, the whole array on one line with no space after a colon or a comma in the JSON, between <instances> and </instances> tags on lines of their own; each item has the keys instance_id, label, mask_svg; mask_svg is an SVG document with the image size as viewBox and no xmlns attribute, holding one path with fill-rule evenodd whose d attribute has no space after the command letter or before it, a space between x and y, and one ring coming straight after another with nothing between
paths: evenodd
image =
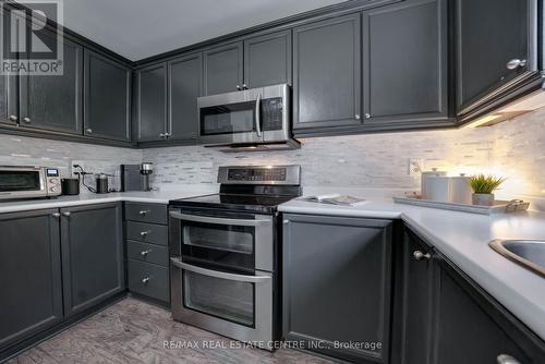
<instances>
[{"instance_id":1,"label":"stainless control panel at the back of the range","mask_svg":"<svg viewBox=\"0 0 545 364\"><path fill-rule=\"evenodd\" d=\"M300 170L300 166L220 167L218 183L299 185L301 183Z\"/></svg>"}]
</instances>

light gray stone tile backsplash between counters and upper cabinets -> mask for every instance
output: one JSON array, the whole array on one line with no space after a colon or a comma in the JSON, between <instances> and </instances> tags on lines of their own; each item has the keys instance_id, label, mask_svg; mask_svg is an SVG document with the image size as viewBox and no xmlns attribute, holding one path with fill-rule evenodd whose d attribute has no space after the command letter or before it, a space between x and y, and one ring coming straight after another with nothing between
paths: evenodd
<instances>
[{"instance_id":1,"label":"light gray stone tile backsplash between counters and upper cabinets","mask_svg":"<svg viewBox=\"0 0 545 364\"><path fill-rule=\"evenodd\" d=\"M128 149L0 135L0 165L57 166L69 175L76 161L113 173L120 163L155 163L154 185L216 183L218 166L301 165L303 185L367 189L420 187L409 159L424 170L493 172L511 194L545 196L545 109L492 128L302 139L299 150L223 154L202 146Z\"/></svg>"}]
</instances>

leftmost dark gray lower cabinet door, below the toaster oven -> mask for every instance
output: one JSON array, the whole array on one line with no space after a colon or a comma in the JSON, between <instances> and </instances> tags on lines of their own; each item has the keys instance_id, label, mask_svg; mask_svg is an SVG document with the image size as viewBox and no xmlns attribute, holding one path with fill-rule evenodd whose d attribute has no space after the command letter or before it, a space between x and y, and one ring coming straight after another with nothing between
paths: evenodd
<instances>
[{"instance_id":1,"label":"leftmost dark gray lower cabinet door, below the toaster oven","mask_svg":"<svg viewBox=\"0 0 545 364\"><path fill-rule=\"evenodd\" d=\"M0 352L62 319L56 213L0 215Z\"/></svg>"}]
</instances>

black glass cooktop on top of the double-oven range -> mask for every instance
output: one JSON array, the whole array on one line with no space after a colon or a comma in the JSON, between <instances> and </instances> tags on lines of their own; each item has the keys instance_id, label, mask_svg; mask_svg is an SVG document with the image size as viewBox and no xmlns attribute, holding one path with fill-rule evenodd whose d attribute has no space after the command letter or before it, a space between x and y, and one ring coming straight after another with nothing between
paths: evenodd
<instances>
[{"instance_id":1,"label":"black glass cooktop on top of the double-oven range","mask_svg":"<svg viewBox=\"0 0 545 364\"><path fill-rule=\"evenodd\" d=\"M207 207L230 210L250 210L257 213L274 213L278 205L283 204L295 196L282 195L243 195L218 193L191 198L171 201L174 206L185 207Z\"/></svg>"}]
</instances>

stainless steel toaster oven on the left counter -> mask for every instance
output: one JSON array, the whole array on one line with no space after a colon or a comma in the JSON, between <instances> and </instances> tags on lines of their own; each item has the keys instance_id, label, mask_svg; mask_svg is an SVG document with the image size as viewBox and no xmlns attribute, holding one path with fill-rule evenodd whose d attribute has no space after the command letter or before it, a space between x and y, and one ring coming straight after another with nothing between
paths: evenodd
<instances>
[{"instance_id":1,"label":"stainless steel toaster oven on the left counter","mask_svg":"<svg viewBox=\"0 0 545 364\"><path fill-rule=\"evenodd\" d=\"M50 197L61 192L57 168L0 166L0 199Z\"/></svg>"}]
</instances>

